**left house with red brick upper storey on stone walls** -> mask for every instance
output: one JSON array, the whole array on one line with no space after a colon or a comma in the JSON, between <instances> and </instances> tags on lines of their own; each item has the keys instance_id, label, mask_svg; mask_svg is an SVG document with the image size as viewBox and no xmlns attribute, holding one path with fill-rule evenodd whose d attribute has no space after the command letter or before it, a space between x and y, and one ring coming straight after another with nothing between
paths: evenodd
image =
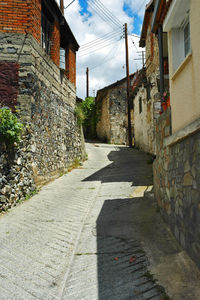
<instances>
[{"instance_id":1,"label":"left house with red brick upper storey on stone walls","mask_svg":"<svg viewBox=\"0 0 200 300\"><path fill-rule=\"evenodd\" d=\"M0 153L0 210L82 157L76 105L79 45L55 0L0 1L0 103L26 126L20 149ZM14 150L13 150L14 151ZM11 184L12 182L12 184ZM10 184L10 188L4 188Z\"/></svg>"}]
</instances>

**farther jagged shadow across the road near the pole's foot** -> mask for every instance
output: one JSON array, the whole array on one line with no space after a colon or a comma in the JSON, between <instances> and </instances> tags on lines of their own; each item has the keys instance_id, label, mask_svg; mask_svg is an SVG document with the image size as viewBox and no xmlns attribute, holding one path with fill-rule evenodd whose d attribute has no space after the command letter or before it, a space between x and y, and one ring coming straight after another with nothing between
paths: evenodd
<instances>
[{"instance_id":1,"label":"farther jagged shadow across the road near the pole's foot","mask_svg":"<svg viewBox=\"0 0 200 300\"><path fill-rule=\"evenodd\" d=\"M151 156L136 149L118 147L108 154L112 162L83 181L132 182L133 186L152 185Z\"/></svg>"}]
</instances>

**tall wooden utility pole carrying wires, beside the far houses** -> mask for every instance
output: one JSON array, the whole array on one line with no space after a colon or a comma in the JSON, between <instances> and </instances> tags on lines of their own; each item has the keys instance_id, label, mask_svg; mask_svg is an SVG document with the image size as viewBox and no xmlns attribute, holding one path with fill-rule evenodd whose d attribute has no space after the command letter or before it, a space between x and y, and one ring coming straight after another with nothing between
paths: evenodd
<instances>
[{"instance_id":1,"label":"tall wooden utility pole carrying wires, beside the far houses","mask_svg":"<svg viewBox=\"0 0 200 300\"><path fill-rule=\"evenodd\" d=\"M129 57L128 57L128 30L127 23L125 23L125 48L126 48L126 79L127 79L127 108L128 108L128 140L129 147L132 147L131 134L131 103L130 103L130 77L129 77Z\"/></svg>"}]
</instances>

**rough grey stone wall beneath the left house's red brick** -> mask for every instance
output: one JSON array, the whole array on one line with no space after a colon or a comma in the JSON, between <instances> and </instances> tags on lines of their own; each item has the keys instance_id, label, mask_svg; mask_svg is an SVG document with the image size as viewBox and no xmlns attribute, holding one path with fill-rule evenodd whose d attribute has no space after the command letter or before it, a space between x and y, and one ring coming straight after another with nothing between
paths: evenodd
<instances>
[{"instance_id":1,"label":"rough grey stone wall beneath the left house's red brick","mask_svg":"<svg viewBox=\"0 0 200 300\"><path fill-rule=\"evenodd\" d=\"M1 33L0 39L0 61L19 65L17 109L28 126L15 154L7 156L1 149L0 188L7 207L35 184L43 185L67 171L83 157L84 149L74 113L74 85L32 36Z\"/></svg>"}]
</instances>

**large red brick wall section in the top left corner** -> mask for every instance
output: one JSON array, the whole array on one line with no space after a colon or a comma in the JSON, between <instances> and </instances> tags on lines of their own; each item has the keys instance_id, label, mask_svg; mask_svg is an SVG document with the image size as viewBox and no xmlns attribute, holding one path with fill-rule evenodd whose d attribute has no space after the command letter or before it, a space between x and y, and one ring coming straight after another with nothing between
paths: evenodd
<instances>
[{"instance_id":1,"label":"large red brick wall section in the top left corner","mask_svg":"<svg viewBox=\"0 0 200 300\"><path fill-rule=\"evenodd\" d=\"M40 42L41 0L1 0L0 31L30 33Z\"/></svg>"}]
</instances>

